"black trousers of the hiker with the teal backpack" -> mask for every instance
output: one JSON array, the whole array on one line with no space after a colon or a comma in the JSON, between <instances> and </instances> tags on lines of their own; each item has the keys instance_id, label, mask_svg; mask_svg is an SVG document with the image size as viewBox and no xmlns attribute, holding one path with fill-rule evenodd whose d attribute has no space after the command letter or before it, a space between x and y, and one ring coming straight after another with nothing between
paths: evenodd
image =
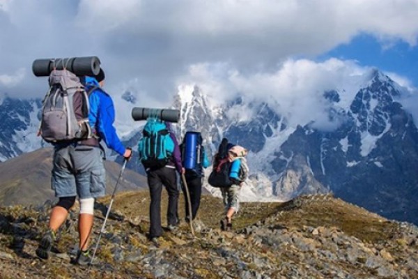
<instances>
[{"instance_id":1,"label":"black trousers of the hiker with the teal backpack","mask_svg":"<svg viewBox=\"0 0 418 279\"><path fill-rule=\"evenodd\" d=\"M164 185L169 194L167 208L167 225L176 226L179 190L177 188L176 169L162 167L147 172L148 188L150 189L150 239L162 235L161 227L161 194Z\"/></svg>"}]
</instances>

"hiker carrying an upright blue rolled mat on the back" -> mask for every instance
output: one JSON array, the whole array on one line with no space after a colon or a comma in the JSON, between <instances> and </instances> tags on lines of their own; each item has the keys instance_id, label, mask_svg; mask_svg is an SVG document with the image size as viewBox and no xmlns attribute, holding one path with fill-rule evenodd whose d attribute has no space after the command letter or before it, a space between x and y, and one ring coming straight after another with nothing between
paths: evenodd
<instances>
[{"instance_id":1,"label":"hiker carrying an upright blue rolled mat on the back","mask_svg":"<svg viewBox=\"0 0 418 279\"><path fill-rule=\"evenodd\" d=\"M185 182L189 191L190 206L192 211L189 211L189 203L185 202L186 222L189 223L190 217L192 220L196 218L199 210L201 193L203 169L209 167L210 162L206 155L206 149L202 144L202 136L199 132L186 132L182 144L180 144L181 158L183 167L185 167ZM187 201L187 189L185 183L182 181L182 190Z\"/></svg>"}]
</instances>

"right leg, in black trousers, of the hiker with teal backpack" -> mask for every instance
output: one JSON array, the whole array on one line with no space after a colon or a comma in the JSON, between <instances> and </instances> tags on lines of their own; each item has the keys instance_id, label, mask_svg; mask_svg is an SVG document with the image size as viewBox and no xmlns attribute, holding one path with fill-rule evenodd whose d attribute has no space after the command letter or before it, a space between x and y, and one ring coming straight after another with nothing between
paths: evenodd
<instances>
[{"instance_id":1,"label":"right leg, in black trousers, of the hiker with teal backpack","mask_svg":"<svg viewBox=\"0 0 418 279\"><path fill-rule=\"evenodd\" d=\"M177 226L178 220L178 195L176 169L163 167L161 169L161 180L169 194L169 206L167 208L167 225Z\"/></svg>"}]
</instances>

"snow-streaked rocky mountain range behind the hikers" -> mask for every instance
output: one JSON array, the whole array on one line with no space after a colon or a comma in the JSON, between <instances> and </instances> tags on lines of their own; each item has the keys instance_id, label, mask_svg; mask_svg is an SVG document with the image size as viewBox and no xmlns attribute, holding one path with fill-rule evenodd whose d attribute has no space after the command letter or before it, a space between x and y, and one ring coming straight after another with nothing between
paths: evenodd
<instances>
[{"instance_id":1,"label":"snow-streaked rocky mountain range behind the hikers","mask_svg":"<svg viewBox=\"0 0 418 279\"><path fill-rule=\"evenodd\" d=\"M249 150L250 176L241 191L243 200L287 200L332 191L383 216L418 223L418 130L404 109L406 93L371 70L321 93L321 121L314 112L311 121L290 121L277 109L279 100L238 96L219 103L199 85L180 86L171 107L181 111L178 140L186 130L199 130L209 155L216 153L222 137ZM130 113L135 93L125 91L121 97L114 98L116 111ZM33 136L39 107L40 100L3 98L2 160L40 146ZM135 150L144 123L132 124L129 116L119 118L116 126L125 144ZM144 172L136 158L128 167ZM205 187L219 195L217 189Z\"/></svg>"}]
</instances>

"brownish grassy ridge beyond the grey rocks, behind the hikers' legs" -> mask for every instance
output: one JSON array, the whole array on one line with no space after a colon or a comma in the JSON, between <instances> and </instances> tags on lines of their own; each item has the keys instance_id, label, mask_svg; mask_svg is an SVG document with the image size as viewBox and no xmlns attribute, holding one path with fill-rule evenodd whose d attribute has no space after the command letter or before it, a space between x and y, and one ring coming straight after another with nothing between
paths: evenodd
<instances>
[{"instance_id":1,"label":"brownish grassy ridge beyond the grey rocks, behind the hikers' legs","mask_svg":"<svg viewBox=\"0 0 418 279\"><path fill-rule=\"evenodd\" d=\"M100 200L109 204L110 197ZM178 213L181 220L185 218L185 201L180 195ZM377 243L390 239L396 233L397 225L385 218L370 213L341 199L330 198L325 202L306 202L302 208L282 211L280 202L242 202L240 212L235 216L234 229L240 230L257 222L263 222L269 216L274 217L274 225L281 227L302 228L335 227L348 235L355 236L362 241ZM125 217L141 222L141 229L148 231L149 193L148 191L126 192L116 195L115 211L120 211ZM166 225L167 191L162 193L162 225ZM280 213L281 212L281 213ZM202 195L198 218L208 227L218 228L219 220L224 217L222 200L210 195ZM141 225L140 224L140 225Z\"/></svg>"}]
</instances>

